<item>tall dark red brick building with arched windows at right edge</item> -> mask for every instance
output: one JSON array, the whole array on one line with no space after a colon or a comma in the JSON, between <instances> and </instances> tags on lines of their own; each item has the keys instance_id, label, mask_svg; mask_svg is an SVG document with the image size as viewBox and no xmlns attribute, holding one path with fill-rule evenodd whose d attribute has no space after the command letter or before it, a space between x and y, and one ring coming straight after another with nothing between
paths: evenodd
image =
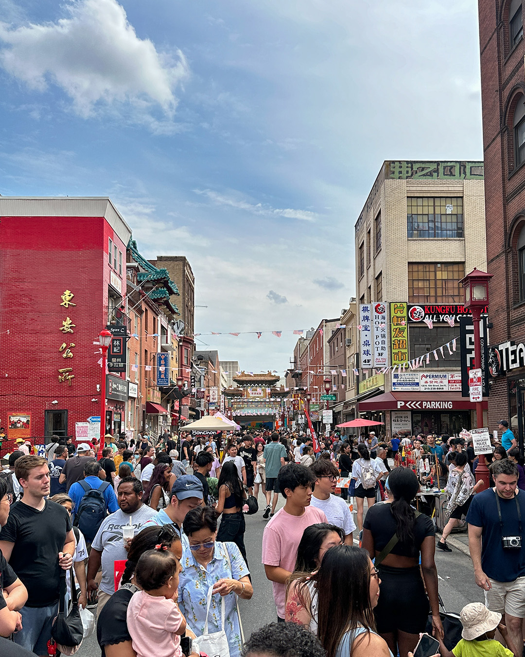
<instances>
[{"instance_id":1,"label":"tall dark red brick building with arched windows at right edge","mask_svg":"<svg viewBox=\"0 0 525 657\"><path fill-rule=\"evenodd\" d=\"M523 436L525 72L521 0L479 0L492 371L488 422Z\"/></svg>"}]
</instances>

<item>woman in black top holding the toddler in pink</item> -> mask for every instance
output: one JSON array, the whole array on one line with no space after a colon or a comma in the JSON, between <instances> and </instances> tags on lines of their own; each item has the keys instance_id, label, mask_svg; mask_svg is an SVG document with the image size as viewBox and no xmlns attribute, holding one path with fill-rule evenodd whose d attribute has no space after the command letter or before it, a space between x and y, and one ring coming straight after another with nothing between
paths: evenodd
<instances>
[{"instance_id":1,"label":"woman in black top holding the toddler in pink","mask_svg":"<svg viewBox=\"0 0 525 657\"><path fill-rule=\"evenodd\" d=\"M135 536L129 546L120 588L106 602L96 622L96 640L102 657L135 657L126 620L127 607L133 593L140 591L135 580L138 559L157 545L160 545L161 549L169 550L179 560L182 558L180 537L171 525L146 527ZM192 636L192 633L186 631L186 635Z\"/></svg>"}]
</instances>

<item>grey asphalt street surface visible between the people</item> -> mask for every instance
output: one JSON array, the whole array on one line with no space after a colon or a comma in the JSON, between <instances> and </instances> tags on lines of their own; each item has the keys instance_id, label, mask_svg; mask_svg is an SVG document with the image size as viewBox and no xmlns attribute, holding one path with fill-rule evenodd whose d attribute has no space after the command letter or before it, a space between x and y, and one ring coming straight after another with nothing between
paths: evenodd
<instances>
[{"instance_id":1,"label":"grey asphalt street surface visible between the people","mask_svg":"<svg viewBox=\"0 0 525 657\"><path fill-rule=\"evenodd\" d=\"M280 499L278 508L284 500ZM249 568L253 580L253 597L251 600L241 600L240 608L245 637L266 623L277 620L272 585L264 575L261 564L261 545L266 520L263 519L262 497L259 495L259 512L246 516L245 545L249 560ZM453 549L452 553L436 551L436 566L438 568L439 591L447 611L460 612L468 602L483 602L483 592L474 582L472 562L467 555ZM84 641L77 652L79 657L99 657L100 648L93 634Z\"/></svg>"}]
</instances>

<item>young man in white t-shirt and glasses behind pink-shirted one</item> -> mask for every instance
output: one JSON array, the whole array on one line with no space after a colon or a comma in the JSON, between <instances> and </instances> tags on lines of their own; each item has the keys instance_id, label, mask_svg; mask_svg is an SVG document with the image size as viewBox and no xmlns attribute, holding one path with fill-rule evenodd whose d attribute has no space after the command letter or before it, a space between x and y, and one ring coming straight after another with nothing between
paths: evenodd
<instances>
[{"instance_id":1,"label":"young man in white t-shirt and glasses behind pink-shirted one","mask_svg":"<svg viewBox=\"0 0 525 657\"><path fill-rule=\"evenodd\" d=\"M345 545L354 545L354 518L345 500L333 495L340 476L339 470L327 459L314 461L310 470L316 477L310 505L324 511L329 524L340 527L345 532Z\"/></svg>"}]
</instances>

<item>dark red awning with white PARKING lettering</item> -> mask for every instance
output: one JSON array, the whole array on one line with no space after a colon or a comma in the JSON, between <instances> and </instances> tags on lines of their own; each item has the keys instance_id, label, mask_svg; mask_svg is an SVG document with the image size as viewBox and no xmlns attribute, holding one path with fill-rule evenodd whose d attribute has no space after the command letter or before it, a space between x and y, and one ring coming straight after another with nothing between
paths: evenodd
<instances>
[{"instance_id":1,"label":"dark red awning with white PARKING lettering","mask_svg":"<svg viewBox=\"0 0 525 657\"><path fill-rule=\"evenodd\" d=\"M483 400L483 408L488 407ZM461 392L385 392L359 402L359 411L471 411L476 404Z\"/></svg>"}]
</instances>

